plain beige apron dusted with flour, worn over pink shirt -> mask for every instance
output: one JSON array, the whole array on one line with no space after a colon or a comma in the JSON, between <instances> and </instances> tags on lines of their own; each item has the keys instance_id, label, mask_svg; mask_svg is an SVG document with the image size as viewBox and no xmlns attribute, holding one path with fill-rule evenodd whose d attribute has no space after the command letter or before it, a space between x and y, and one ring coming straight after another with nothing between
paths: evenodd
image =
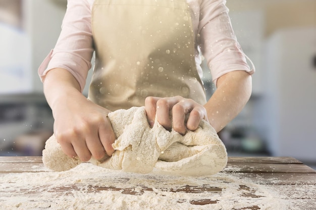
<instances>
[{"instance_id":1,"label":"plain beige apron dusted with flour, worn over pink shirt","mask_svg":"<svg viewBox=\"0 0 316 210\"><path fill-rule=\"evenodd\" d=\"M206 103L185 0L95 0L92 33L94 103L111 111L143 106L147 96Z\"/></svg>"}]
</instances>

